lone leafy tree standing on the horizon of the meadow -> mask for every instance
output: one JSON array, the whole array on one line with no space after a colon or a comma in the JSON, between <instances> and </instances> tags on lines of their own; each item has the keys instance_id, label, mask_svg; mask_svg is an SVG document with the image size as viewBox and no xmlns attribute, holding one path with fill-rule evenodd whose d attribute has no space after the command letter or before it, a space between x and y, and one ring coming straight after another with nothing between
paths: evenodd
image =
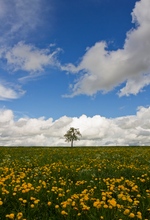
<instances>
[{"instance_id":1,"label":"lone leafy tree standing on the horizon of the meadow","mask_svg":"<svg viewBox=\"0 0 150 220\"><path fill-rule=\"evenodd\" d=\"M71 127L67 133L64 135L65 141L71 142L71 147L73 147L73 141L80 140L79 136L82 136L79 129Z\"/></svg>"}]
</instances>

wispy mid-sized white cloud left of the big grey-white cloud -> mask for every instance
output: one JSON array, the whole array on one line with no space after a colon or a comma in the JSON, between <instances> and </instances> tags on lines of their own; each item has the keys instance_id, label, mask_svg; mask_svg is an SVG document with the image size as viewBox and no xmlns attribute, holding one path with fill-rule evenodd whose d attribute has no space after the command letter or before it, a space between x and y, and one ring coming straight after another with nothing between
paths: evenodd
<instances>
[{"instance_id":1,"label":"wispy mid-sized white cloud left of the big grey-white cloud","mask_svg":"<svg viewBox=\"0 0 150 220\"><path fill-rule=\"evenodd\" d=\"M30 74L41 72L45 66L56 66L56 55L59 48L53 52L48 49L39 49L31 44L19 42L12 48L6 48L3 56L13 71L23 70Z\"/></svg>"}]
</instances>

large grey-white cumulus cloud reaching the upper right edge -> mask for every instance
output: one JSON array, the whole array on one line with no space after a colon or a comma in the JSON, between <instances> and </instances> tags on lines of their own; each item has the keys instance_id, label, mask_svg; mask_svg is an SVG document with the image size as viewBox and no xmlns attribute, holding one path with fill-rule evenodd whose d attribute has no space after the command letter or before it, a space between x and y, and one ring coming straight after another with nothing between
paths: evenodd
<instances>
[{"instance_id":1,"label":"large grey-white cumulus cloud reaching the upper right edge","mask_svg":"<svg viewBox=\"0 0 150 220\"><path fill-rule=\"evenodd\" d=\"M122 49L109 51L105 41L97 42L87 49L77 66L62 66L62 70L82 74L70 96L108 92L123 82L126 85L118 95L135 95L150 84L149 8L149 0L136 2L131 13L136 27L128 31Z\"/></svg>"}]
</instances>

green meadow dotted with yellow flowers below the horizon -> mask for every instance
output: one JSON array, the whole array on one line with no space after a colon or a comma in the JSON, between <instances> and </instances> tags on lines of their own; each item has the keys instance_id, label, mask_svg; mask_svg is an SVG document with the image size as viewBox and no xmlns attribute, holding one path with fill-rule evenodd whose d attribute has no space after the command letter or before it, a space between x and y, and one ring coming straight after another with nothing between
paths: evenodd
<instances>
[{"instance_id":1,"label":"green meadow dotted with yellow flowers below the horizon","mask_svg":"<svg viewBox=\"0 0 150 220\"><path fill-rule=\"evenodd\" d=\"M0 220L150 220L150 147L0 147Z\"/></svg>"}]
</instances>

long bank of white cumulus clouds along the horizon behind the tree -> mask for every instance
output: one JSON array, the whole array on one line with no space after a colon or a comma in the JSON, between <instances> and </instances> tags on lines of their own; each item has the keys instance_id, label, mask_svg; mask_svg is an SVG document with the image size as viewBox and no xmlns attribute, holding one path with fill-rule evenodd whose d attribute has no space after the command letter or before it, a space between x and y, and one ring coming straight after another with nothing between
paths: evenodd
<instances>
[{"instance_id":1,"label":"long bank of white cumulus clouds along the horizon behind the tree","mask_svg":"<svg viewBox=\"0 0 150 220\"><path fill-rule=\"evenodd\" d=\"M12 110L0 110L1 146L66 146L64 134L70 127L79 128L82 137L76 146L149 145L150 107L139 107L136 115L105 118L63 116L52 118L19 118Z\"/></svg>"}]
</instances>

